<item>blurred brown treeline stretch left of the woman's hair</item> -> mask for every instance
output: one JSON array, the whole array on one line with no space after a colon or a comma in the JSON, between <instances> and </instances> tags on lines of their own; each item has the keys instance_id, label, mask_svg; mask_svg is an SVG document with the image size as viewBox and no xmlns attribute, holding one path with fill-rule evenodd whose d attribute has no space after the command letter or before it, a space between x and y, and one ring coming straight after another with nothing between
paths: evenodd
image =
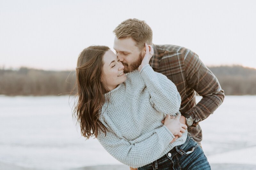
<instances>
[{"instance_id":1,"label":"blurred brown treeline stretch left of the woman's hair","mask_svg":"<svg viewBox=\"0 0 256 170\"><path fill-rule=\"evenodd\" d=\"M67 95L75 82L74 71L44 71L21 67L0 69L1 95Z\"/></svg>"}]
</instances>

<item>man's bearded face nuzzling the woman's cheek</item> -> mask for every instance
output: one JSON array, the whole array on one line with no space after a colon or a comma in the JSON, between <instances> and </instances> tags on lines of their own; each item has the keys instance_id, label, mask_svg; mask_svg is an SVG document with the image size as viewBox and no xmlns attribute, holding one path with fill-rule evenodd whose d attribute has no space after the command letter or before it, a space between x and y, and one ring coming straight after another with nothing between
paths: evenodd
<instances>
[{"instance_id":1,"label":"man's bearded face nuzzling the woman's cheek","mask_svg":"<svg viewBox=\"0 0 256 170\"><path fill-rule=\"evenodd\" d=\"M145 55L145 51L140 51L136 46L136 42L130 37L121 39L115 37L114 49L116 50L118 59L124 65L124 73L138 69Z\"/></svg>"}]
</instances>

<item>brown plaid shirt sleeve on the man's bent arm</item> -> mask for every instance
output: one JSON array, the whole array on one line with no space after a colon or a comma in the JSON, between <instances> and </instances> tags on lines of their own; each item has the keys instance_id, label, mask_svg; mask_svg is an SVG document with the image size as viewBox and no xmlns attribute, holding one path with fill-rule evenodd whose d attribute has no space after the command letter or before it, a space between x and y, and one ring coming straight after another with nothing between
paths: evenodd
<instances>
[{"instance_id":1,"label":"brown plaid shirt sleeve on the man's bent arm","mask_svg":"<svg viewBox=\"0 0 256 170\"><path fill-rule=\"evenodd\" d=\"M184 65L186 80L189 87L194 89L203 98L186 113L195 122L206 119L223 102L224 91L215 75L198 58L197 54L188 50L185 51Z\"/></svg>"}]
</instances>

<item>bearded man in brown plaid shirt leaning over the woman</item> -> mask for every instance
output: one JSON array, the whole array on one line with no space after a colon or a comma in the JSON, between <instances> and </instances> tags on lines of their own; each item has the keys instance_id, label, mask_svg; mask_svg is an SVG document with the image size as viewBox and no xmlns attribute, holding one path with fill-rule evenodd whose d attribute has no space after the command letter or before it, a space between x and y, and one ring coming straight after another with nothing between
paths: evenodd
<instances>
[{"instance_id":1,"label":"bearded man in brown plaid shirt leaning over the woman","mask_svg":"<svg viewBox=\"0 0 256 170\"><path fill-rule=\"evenodd\" d=\"M114 49L124 65L124 73L137 69L145 55L145 43L152 45L154 55L150 66L166 75L181 96L180 122L200 144L202 130L199 122L212 114L223 102L224 91L212 72L191 50L175 45L152 44L153 32L145 21L127 19L113 31ZM196 104L196 92L203 98Z\"/></svg>"}]
</instances>

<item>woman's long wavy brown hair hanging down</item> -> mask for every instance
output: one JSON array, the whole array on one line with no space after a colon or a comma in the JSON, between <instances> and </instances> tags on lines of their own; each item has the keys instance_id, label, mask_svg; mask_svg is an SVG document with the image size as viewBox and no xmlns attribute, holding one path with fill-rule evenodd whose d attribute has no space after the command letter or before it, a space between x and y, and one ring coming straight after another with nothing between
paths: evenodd
<instances>
[{"instance_id":1,"label":"woman's long wavy brown hair hanging down","mask_svg":"<svg viewBox=\"0 0 256 170\"><path fill-rule=\"evenodd\" d=\"M97 138L101 130L106 134L106 126L99 120L104 94L107 90L100 81L103 67L103 55L109 50L107 46L89 46L78 57L76 67L76 97L73 116L80 124L81 134L89 139Z\"/></svg>"}]
</instances>

